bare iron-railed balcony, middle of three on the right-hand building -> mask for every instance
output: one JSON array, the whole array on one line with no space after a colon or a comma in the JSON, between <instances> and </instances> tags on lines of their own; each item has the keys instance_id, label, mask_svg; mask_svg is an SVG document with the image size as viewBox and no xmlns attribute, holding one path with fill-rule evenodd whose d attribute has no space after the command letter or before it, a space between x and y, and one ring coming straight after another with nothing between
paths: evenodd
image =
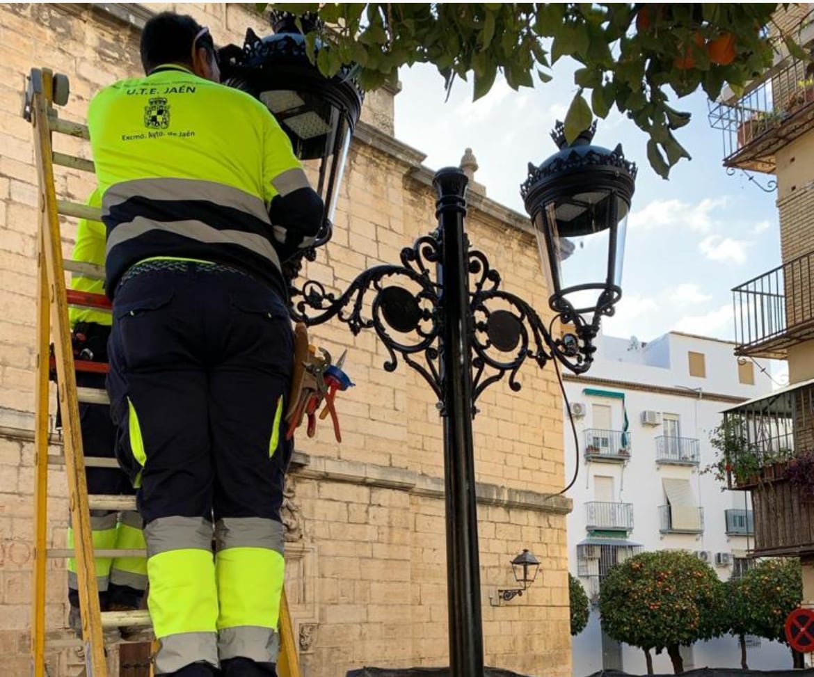
<instances>
[{"instance_id":1,"label":"bare iron-railed balcony, middle of three on the right-hand building","mask_svg":"<svg viewBox=\"0 0 814 677\"><path fill-rule=\"evenodd\" d=\"M812 286L814 251L736 286L735 354L782 360L789 347L814 338Z\"/></svg>"}]
</instances>

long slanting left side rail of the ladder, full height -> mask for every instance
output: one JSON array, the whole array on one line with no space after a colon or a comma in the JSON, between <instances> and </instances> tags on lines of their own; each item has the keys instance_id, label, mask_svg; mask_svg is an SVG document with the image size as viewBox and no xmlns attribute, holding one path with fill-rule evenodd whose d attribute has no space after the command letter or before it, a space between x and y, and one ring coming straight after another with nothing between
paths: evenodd
<instances>
[{"instance_id":1,"label":"long slanting left side rail of the ladder, full height","mask_svg":"<svg viewBox=\"0 0 814 677\"><path fill-rule=\"evenodd\" d=\"M40 186L40 228L45 251L50 313L56 367L59 378L59 404L64 413L63 431L65 468L68 472L68 496L71 508L74 544L77 559L77 583L82 616L82 637L85 641L85 663L88 675L107 677L107 662L103 645L102 623L96 582L93 541L90 529L90 508L85 480L85 459L79 430L77 382L73 372L71 331L68 323L68 301L63 269L62 242L59 234L59 214L54 182L53 150L49 126L50 93L53 76L43 69L32 71L32 117ZM91 620L93 619L93 620Z\"/></svg>"}]
</instances>

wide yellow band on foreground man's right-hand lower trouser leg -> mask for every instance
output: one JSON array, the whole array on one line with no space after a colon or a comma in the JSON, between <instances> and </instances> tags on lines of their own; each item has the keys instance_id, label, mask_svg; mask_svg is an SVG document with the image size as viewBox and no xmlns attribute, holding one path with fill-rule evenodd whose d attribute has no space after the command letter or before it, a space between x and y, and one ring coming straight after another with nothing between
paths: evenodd
<instances>
[{"instance_id":1,"label":"wide yellow band on foreground man's right-hand lower trouser leg","mask_svg":"<svg viewBox=\"0 0 814 677\"><path fill-rule=\"evenodd\" d=\"M238 626L276 630L286 569L282 555L268 548L228 548L217 553L215 561L221 603L218 630Z\"/></svg>"}]
</instances>

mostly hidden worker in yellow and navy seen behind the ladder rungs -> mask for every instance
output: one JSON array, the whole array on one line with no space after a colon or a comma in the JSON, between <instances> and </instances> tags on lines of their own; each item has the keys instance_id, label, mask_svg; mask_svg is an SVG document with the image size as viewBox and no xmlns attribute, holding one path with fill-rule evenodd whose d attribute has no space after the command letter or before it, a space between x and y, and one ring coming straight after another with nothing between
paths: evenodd
<instances>
[{"instance_id":1,"label":"mostly hidden worker in yellow and navy seen behind the ladder rungs","mask_svg":"<svg viewBox=\"0 0 814 677\"><path fill-rule=\"evenodd\" d=\"M94 190L88 199L89 207L102 207L102 196ZM105 233L98 221L80 219L77 242L73 248L73 260L87 264L104 265ZM96 277L74 274L72 289L103 294L103 281ZM68 310L71 322L72 342L77 359L107 363L107 339L110 336L111 314L106 310L72 306ZM103 373L77 369L77 386L103 388ZM82 448L88 456L113 458L116 456L116 427L106 404L79 404ZM133 484L125 473L117 468L87 467L85 470L88 491L92 494L134 493ZM135 511L116 513L111 510L94 510L90 515L95 548L142 549L144 535L142 518ZM73 547L73 530L68 527L68 547ZM77 590L76 561L68 560L68 626L77 635L82 634L82 618ZM145 557L96 558L96 579L99 590L99 607L103 611L138 609L147 588L147 560ZM125 639L138 634L131 628L121 628Z\"/></svg>"}]
</instances>

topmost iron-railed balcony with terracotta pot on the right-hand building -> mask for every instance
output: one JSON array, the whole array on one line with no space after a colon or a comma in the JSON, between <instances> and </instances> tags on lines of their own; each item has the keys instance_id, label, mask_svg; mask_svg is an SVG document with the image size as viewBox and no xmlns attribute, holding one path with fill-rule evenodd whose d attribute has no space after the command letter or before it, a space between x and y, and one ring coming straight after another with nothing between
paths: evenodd
<instances>
[{"instance_id":1,"label":"topmost iron-railed balcony with terracotta pot on the right-hand building","mask_svg":"<svg viewBox=\"0 0 814 677\"><path fill-rule=\"evenodd\" d=\"M814 129L814 70L787 56L746 86L742 96L729 90L709 105L713 129L724 138L724 166L774 173L775 155Z\"/></svg>"}]
</instances>

